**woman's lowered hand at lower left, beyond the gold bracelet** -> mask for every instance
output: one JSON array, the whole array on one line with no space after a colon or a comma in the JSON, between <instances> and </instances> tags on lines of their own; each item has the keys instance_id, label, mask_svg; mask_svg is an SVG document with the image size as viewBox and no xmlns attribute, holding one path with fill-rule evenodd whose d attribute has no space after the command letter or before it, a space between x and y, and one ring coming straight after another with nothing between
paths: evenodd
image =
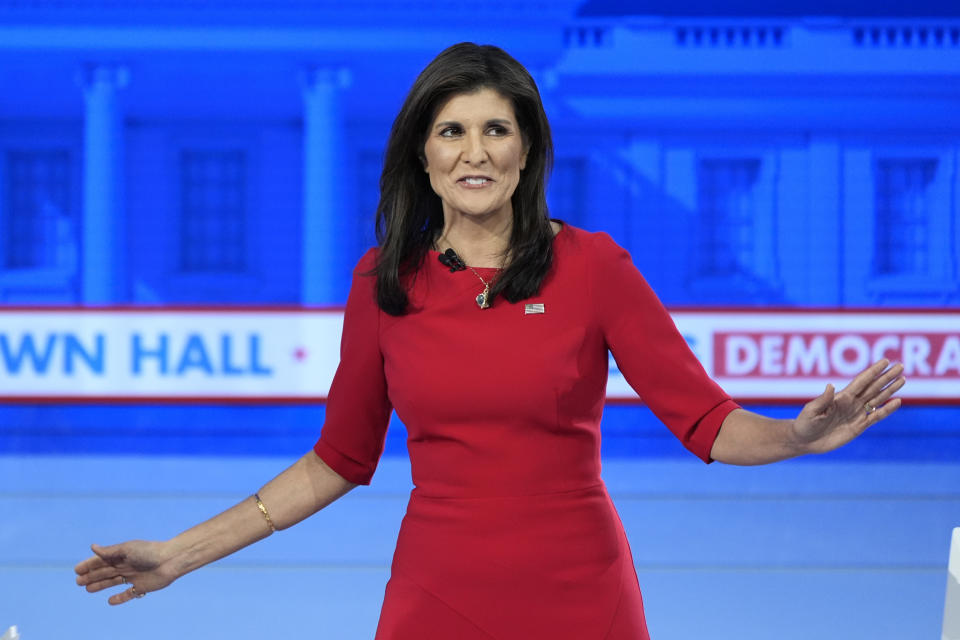
<instances>
[{"instance_id":1,"label":"woman's lowered hand at lower left, beyond the gold bracelet","mask_svg":"<svg viewBox=\"0 0 960 640\"><path fill-rule=\"evenodd\" d=\"M142 598L178 577L170 567L171 554L164 542L131 540L108 547L95 544L90 549L95 555L74 567L78 585L90 593L130 585L129 589L110 596L107 600L110 604Z\"/></svg>"}]
</instances>

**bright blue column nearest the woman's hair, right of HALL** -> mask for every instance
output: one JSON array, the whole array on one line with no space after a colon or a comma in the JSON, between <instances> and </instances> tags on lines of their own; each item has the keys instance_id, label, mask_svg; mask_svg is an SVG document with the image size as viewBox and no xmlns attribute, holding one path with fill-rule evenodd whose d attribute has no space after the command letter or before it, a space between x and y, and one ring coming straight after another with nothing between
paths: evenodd
<instances>
[{"instance_id":1,"label":"bright blue column nearest the woman's hair, right of HALL","mask_svg":"<svg viewBox=\"0 0 960 640\"><path fill-rule=\"evenodd\" d=\"M350 84L343 68L303 73L303 260L300 300L342 304L353 267L350 247L356 220L347 211L344 180L342 92Z\"/></svg>"}]
</instances>

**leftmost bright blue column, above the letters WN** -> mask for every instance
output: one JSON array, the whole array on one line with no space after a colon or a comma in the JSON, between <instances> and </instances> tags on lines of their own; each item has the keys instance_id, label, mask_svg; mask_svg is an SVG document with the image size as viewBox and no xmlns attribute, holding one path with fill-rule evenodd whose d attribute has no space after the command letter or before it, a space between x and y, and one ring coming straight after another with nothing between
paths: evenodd
<instances>
[{"instance_id":1,"label":"leftmost bright blue column, above the letters WN","mask_svg":"<svg viewBox=\"0 0 960 640\"><path fill-rule=\"evenodd\" d=\"M92 65L80 73L83 129L83 260L81 300L110 304L123 298L123 111L125 67Z\"/></svg>"}]
</instances>

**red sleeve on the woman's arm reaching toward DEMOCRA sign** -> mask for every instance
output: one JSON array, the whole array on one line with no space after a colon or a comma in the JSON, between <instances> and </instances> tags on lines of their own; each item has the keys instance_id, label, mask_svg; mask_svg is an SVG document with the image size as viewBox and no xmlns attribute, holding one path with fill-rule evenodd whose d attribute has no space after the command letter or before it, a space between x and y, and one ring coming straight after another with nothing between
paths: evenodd
<instances>
[{"instance_id":1,"label":"red sleeve on the woman's arm reaching toward DEMOCRA sign","mask_svg":"<svg viewBox=\"0 0 960 640\"><path fill-rule=\"evenodd\" d=\"M653 413L705 462L724 418L739 405L710 379L630 254L594 234L591 288L607 347Z\"/></svg>"}]
</instances>

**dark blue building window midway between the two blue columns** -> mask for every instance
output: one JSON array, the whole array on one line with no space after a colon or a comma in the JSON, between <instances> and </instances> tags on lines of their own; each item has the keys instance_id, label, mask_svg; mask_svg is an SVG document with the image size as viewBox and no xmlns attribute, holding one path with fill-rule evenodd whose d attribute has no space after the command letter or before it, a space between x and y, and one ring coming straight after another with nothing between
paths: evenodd
<instances>
[{"instance_id":1,"label":"dark blue building window midway between the two blue columns","mask_svg":"<svg viewBox=\"0 0 960 640\"><path fill-rule=\"evenodd\" d=\"M240 150L180 154L180 268L242 272L247 267L247 157Z\"/></svg>"}]
</instances>

